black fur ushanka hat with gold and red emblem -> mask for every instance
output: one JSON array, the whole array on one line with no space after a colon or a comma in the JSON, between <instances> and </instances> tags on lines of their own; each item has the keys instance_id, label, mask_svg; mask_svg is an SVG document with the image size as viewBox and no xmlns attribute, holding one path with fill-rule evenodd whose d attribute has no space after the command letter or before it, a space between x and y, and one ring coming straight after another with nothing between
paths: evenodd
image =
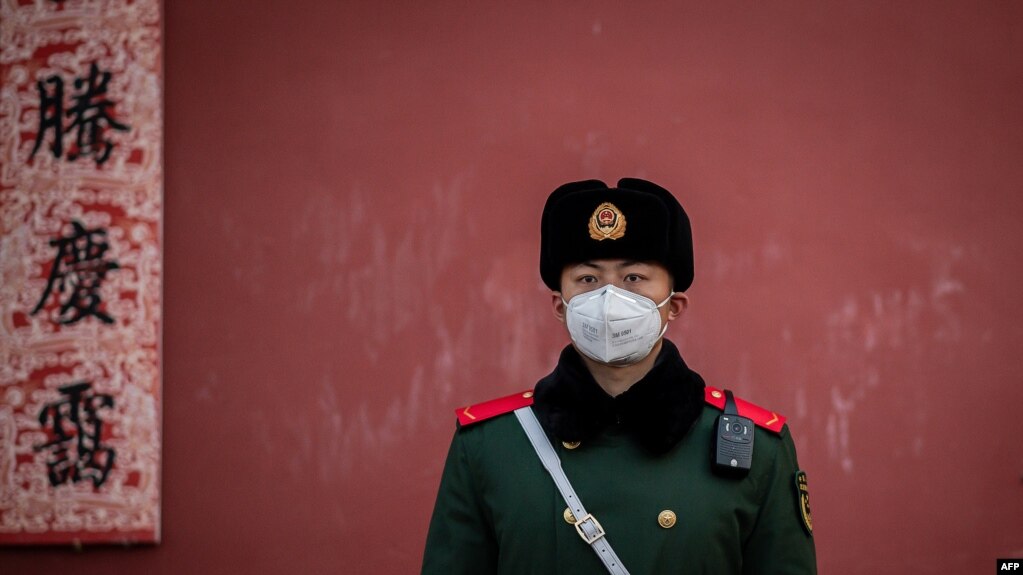
<instances>
[{"instance_id":1,"label":"black fur ushanka hat with gold and red emblem","mask_svg":"<svg viewBox=\"0 0 1023 575\"><path fill-rule=\"evenodd\" d=\"M690 218L670 191L646 180L560 186L540 218L540 277L557 292L565 266L601 259L660 262L684 292L693 284Z\"/></svg>"}]
</instances>

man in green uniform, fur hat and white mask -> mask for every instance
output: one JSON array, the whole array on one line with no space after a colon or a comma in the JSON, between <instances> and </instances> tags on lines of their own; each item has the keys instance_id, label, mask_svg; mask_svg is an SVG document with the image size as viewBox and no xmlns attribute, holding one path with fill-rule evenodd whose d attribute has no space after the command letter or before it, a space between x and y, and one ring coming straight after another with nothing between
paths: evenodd
<instances>
[{"instance_id":1,"label":"man in green uniform, fur hat and white mask","mask_svg":"<svg viewBox=\"0 0 1023 575\"><path fill-rule=\"evenodd\" d=\"M540 244L572 345L534 389L456 410L422 573L815 573L785 418L706 386L663 337L693 282L678 201L638 179L568 183Z\"/></svg>"}]
</instances>

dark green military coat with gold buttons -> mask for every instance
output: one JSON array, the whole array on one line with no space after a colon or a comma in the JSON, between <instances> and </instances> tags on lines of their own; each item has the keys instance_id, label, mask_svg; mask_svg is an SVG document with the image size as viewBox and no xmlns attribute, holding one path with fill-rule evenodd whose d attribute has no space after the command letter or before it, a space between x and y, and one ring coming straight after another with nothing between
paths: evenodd
<instances>
[{"instance_id":1,"label":"dark green military coat with gold buttons","mask_svg":"<svg viewBox=\"0 0 1023 575\"><path fill-rule=\"evenodd\" d=\"M749 475L719 477L711 461L720 411L710 404L698 409L692 428L665 453L643 449L621 425L574 448L553 438L566 475L624 566L632 575L815 573L809 508L797 486L801 474L788 427L776 433L758 428ZM513 413L459 426L422 573L605 573L565 512Z\"/></svg>"}]
</instances>

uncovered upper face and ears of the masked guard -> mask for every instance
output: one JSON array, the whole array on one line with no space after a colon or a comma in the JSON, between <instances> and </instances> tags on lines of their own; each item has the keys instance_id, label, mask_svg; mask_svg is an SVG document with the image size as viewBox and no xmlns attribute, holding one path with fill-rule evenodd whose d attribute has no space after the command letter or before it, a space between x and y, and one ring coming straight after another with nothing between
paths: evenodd
<instances>
[{"instance_id":1,"label":"uncovered upper face and ears of the masked guard","mask_svg":"<svg viewBox=\"0 0 1023 575\"><path fill-rule=\"evenodd\" d=\"M565 266L562 270L562 291L551 295L554 316L565 321L565 304L579 294L605 285L614 285L661 303L671 294L672 278L668 268L657 262L633 260L592 260ZM675 294L668 305L660 309L661 321L672 321L688 305L685 294Z\"/></svg>"}]
</instances>

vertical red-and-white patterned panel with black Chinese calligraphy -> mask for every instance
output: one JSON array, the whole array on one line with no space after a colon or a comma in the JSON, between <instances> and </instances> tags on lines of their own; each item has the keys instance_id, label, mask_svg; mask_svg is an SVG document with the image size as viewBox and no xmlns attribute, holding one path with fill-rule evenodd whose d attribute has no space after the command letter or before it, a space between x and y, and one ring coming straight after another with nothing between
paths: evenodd
<instances>
[{"instance_id":1,"label":"vertical red-and-white patterned panel with black Chinese calligraphy","mask_svg":"<svg viewBox=\"0 0 1023 575\"><path fill-rule=\"evenodd\" d=\"M160 18L0 2L0 543L160 539Z\"/></svg>"}]
</instances>

